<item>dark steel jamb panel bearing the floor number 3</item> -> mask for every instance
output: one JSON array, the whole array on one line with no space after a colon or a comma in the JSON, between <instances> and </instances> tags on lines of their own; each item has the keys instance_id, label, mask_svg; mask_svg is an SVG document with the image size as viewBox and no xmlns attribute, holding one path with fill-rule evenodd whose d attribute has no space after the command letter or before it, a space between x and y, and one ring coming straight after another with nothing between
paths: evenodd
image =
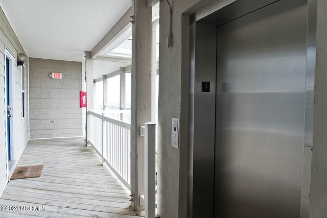
<instances>
[{"instance_id":1,"label":"dark steel jamb panel bearing the floor number 3","mask_svg":"<svg viewBox=\"0 0 327 218\"><path fill-rule=\"evenodd\" d=\"M188 218L214 210L216 29L191 25Z\"/></svg>"}]
</instances>

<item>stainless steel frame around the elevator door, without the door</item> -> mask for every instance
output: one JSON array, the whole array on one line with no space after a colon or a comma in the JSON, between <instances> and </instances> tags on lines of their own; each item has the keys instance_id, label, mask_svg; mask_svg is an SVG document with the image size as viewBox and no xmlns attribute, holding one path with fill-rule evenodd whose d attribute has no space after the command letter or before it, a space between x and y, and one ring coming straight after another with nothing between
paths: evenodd
<instances>
[{"instance_id":1,"label":"stainless steel frame around the elevator door, without the door","mask_svg":"<svg viewBox=\"0 0 327 218\"><path fill-rule=\"evenodd\" d=\"M284 0L279 0L284 1ZM201 81L211 82L211 89L216 87L216 62L208 64L205 71L197 72L200 62L206 61L204 51L212 53L215 46L208 46L213 42L209 37L207 43L197 44L197 31L214 32L216 28L232 19L256 9L277 2L264 0L258 3L255 0L216 1L190 16L190 120L189 120L189 171L188 171L188 217L198 217L199 214L213 217L214 198L210 193L214 192L214 179L205 172L214 172L215 131L207 131L210 127L215 128L215 113L212 101L216 101L216 90L210 90L207 95L199 93ZM306 100L305 100L305 139L302 176L301 218L309 216L309 190L311 178L311 155L312 155L312 123L313 123L313 87L316 60L316 17L317 1L308 0L308 27L307 27L307 63L306 63ZM232 13L231 13L232 12ZM218 21L217 21L218 20ZM201 23L201 25L198 25ZM196 25L198 25L196 27ZM211 27L210 27L211 26ZM201 28L200 28L201 29ZM213 33L212 33L213 34ZM216 33L215 33L216 34ZM216 35L215 35L216 38ZM216 43L216 42L215 42ZM201 47L201 49L199 49ZM201 54L202 52L202 54ZM201 59L202 56L202 59ZM215 56L216 59L216 56ZM214 66L215 65L215 66ZM213 70L215 68L215 70ZM205 93L205 92L204 92ZM204 98L203 98L204 97ZM204 109L206 108L206 109ZM214 108L215 111L215 108ZM199 115L200 114L200 115ZM207 127L207 128L204 128ZM203 143L205 141L206 143ZM200 146L201 145L201 146ZM202 156L201 156L202 155ZM205 162L204 162L205 160ZM202 172L202 169L205 169ZM199 177L201 175L201 177ZM204 175L204 176L203 176ZM204 182L204 180L206 180ZM204 185L200 185L204 184ZM212 186L208 186L212 184ZM208 196L208 198L204 198ZM206 211L212 211L206 212Z\"/></svg>"}]
</instances>

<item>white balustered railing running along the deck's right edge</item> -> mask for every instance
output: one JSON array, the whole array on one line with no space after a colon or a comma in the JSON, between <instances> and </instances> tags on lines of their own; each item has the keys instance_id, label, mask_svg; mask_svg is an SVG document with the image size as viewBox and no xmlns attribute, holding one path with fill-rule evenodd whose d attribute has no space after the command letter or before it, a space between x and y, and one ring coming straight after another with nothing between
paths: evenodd
<instances>
[{"instance_id":1,"label":"white balustered railing running along the deck's right edge","mask_svg":"<svg viewBox=\"0 0 327 218\"><path fill-rule=\"evenodd\" d=\"M88 111L90 115L90 137L88 143L94 147L113 173L130 189L130 130L131 125L113 119L104 113Z\"/></svg>"}]
</instances>

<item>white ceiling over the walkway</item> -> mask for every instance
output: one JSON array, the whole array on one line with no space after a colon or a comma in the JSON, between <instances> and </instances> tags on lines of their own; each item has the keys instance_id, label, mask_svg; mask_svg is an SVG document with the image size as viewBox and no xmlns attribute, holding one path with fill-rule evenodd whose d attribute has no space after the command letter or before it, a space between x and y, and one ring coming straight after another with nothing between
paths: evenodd
<instances>
[{"instance_id":1,"label":"white ceiling over the walkway","mask_svg":"<svg viewBox=\"0 0 327 218\"><path fill-rule=\"evenodd\" d=\"M0 0L29 57L84 60L131 7L130 0Z\"/></svg>"}]
</instances>

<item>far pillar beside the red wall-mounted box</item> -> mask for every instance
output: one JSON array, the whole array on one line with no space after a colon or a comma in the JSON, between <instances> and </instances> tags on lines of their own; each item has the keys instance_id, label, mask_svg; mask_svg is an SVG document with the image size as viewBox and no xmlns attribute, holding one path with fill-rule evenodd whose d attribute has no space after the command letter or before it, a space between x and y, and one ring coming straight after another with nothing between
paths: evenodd
<instances>
[{"instance_id":1,"label":"far pillar beside the red wall-mounted box","mask_svg":"<svg viewBox=\"0 0 327 218\"><path fill-rule=\"evenodd\" d=\"M85 68L86 68L86 111L93 110L94 96L93 96L93 60L91 53L85 52ZM86 116L86 143L90 138L90 116Z\"/></svg>"}]
</instances>

